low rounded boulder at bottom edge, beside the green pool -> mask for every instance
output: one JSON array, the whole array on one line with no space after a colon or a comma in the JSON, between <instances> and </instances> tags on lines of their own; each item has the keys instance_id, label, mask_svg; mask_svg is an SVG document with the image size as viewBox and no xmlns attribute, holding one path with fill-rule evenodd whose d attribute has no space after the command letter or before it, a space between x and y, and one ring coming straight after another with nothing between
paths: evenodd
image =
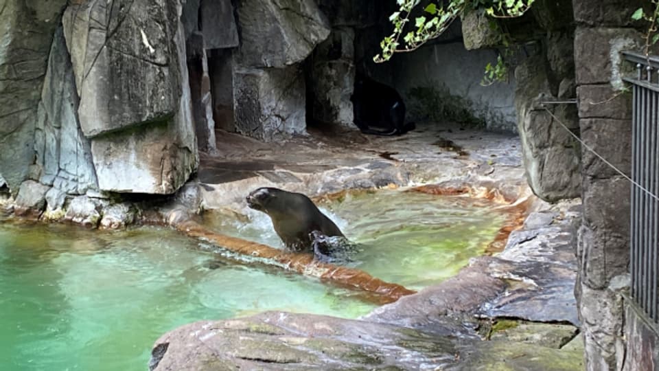
<instances>
[{"instance_id":1,"label":"low rounded boulder at bottom edge, beside the green pool","mask_svg":"<svg viewBox=\"0 0 659 371\"><path fill-rule=\"evenodd\" d=\"M156 341L149 370L446 370L454 337L322 315L267 312L176 328Z\"/></svg>"}]
</instances>

